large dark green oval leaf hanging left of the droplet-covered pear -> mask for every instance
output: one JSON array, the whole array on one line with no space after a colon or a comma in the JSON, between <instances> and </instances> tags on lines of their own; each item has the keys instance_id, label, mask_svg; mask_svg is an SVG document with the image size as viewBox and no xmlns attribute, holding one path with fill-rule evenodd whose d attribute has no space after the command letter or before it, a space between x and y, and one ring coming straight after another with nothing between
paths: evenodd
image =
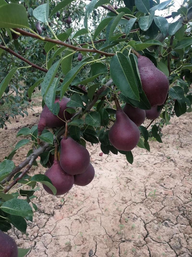
<instances>
[{"instance_id":1,"label":"large dark green oval leaf hanging left of the droplet-covered pear","mask_svg":"<svg viewBox=\"0 0 192 257\"><path fill-rule=\"evenodd\" d=\"M114 84L125 96L133 100L140 99L133 68L124 54L118 52L111 58L110 74Z\"/></svg>"}]
</instances>

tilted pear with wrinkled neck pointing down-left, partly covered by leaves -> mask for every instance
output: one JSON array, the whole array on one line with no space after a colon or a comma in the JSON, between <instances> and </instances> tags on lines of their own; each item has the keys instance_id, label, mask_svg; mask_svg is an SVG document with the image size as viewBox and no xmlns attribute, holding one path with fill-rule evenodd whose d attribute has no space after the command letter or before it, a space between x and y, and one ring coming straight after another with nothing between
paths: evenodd
<instances>
[{"instance_id":1,"label":"tilted pear with wrinkled neck pointing down-left, partly covered by leaves","mask_svg":"<svg viewBox=\"0 0 192 257\"><path fill-rule=\"evenodd\" d=\"M70 101L69 98L63 97L61 102L59 101L60 97L55 98L55 103L60 104L60 110L58 113L58 117L54 115L47 105L44 105L43 110L40 115L40 120L38 123L38 132L42 132L45 127L53 128L53 127L62 127L65 125L67 120L70 120L72 115L68 112L65 112L67 109L67 103ZM64 115L65 114L65 115Z\"/></svg>"}]
</instances>

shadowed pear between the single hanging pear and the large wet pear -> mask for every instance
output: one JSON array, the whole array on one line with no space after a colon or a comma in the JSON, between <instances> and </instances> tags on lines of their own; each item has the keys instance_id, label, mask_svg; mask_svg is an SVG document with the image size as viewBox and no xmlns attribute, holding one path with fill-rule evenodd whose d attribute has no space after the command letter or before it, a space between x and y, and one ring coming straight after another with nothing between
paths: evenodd
<instances>
[{"instance_id":1,"label":"shadowed pear between the single hanging pear and the large wet pear","mask_svg":"<svg viewBox=\"0 0 192 257\"><path fill-rule=\"evenodd\" d=\"M145 110L138 107L126 103L123 111L137 126L140 126L145 120Z\"/></svg>"}]
</instances>

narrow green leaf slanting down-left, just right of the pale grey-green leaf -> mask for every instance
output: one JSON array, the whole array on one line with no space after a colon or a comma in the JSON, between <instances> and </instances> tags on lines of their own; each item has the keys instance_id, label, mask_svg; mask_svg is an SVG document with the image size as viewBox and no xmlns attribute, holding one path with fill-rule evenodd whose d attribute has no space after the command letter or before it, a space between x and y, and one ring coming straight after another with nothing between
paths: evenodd
<instances>
[{"instance_id":1,"label":"narrow green leaf slanting down-left, just right of the pale grey-green leaf","mask_svg":"<svg viewBox=\"0 0 192 257\"><path fill-rule=\"evenodd\" d=\"M61 99L64 96L68 86L71 84L73 79L76 77L78 72L86 65L86 62L81 62L78 65L76 65L74 68L72 68L65 78L63 79L62 85L61 85Z\"/></svg>"}]
</instances>

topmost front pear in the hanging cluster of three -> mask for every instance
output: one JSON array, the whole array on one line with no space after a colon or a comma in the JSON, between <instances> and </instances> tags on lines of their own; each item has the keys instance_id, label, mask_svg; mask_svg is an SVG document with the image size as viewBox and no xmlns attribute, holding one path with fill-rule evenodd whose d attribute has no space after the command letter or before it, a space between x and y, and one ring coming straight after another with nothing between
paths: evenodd
<instances>
[{"instance_id":1,"label":"topmost front pear in the hanging cluster of three","mask_svg":"<svg viewBox=\"0 0 192 257\"><path fill-rule=\"evenodd\" d=\"M82 174L90 163L87 149L71 137L61 140L60 165L70 175Z\"/></svg>"}]
</instances>

